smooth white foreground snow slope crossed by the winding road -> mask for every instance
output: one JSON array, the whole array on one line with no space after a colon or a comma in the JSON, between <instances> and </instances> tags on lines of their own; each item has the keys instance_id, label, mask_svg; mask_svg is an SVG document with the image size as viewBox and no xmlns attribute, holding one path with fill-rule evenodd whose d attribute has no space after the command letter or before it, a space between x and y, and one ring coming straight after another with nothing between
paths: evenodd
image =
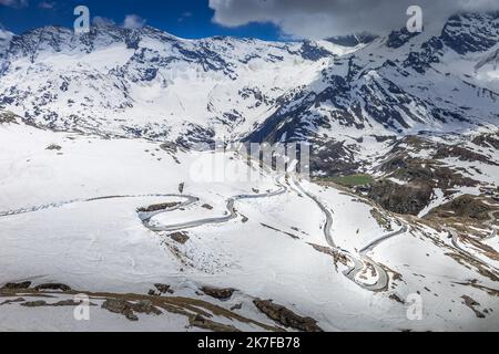
<instances>
[{"instance_id":1,"label":"smooth white foreground snow slope crossed by the winding road","mask_svg":"<svg viewBox=\"0 0 499 354\"><path fill-rule=\"evenodd\" d=\"M47 149L54 144L61 149ZM154 283L166 283L174 290L166 300L197 299L227 310L242 304L235 311L244 317L276 325L252 302L273 299L312 316L326 331L490 330L499 323L492 311L497 296L487 291L497 283L496 268L462 254L444 241L445 235L420 221L387 214L348 192L267 174L249 184L235 175L220 184L194 181L192 166L210 168L213 154L172 156L142 139L2 124L0 145L0 284L62 282L82 292L145 295ZM232 153L222 160L238 165L228 170L244 174L248 168ZM228 215L227 200L237 195L255 198L236 200L234 218L185 227L185 243L174 241L169 231L149 230L136 212L192 196L198 198L194 204L157 215L155 223L220 218ZM376 221L373 210L387 222ZM200 293L204 285L237 291L222 302ZM400 301L417 293L422 320L409 321L407 304ZM22 291L2 298L21 295ZM465 295L479 303L476 310L483 319L466 305ZM3 304L0 327L84 331L84 323L72 320L72 311ZM99 323L93 330L186 329L182 316L141 315L132 324L99 306L91 311Z\"/></svg>"}]
</instances>

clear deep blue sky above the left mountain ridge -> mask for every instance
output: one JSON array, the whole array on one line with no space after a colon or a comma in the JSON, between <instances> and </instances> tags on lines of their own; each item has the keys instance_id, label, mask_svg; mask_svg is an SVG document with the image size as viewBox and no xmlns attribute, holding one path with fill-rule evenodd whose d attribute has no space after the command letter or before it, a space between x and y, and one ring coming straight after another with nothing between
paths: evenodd
<instances>
[{"instance_id":1,"label":"clear deep blue sky above the left mountain ridge","mask_svg":"<svg viewBox=\"0 0 499 354\"><path fill-rule=\"evenodd\" d=\"M91 17L102 17L122 24L126 15L138 15L145 23L182 38L212 35L254 37L278 40L279 30L271 23L249 23L228 28L212 21L208 0L0 0L0 23L14 33L47 24L71 27L79 4L89 7Z\"/></svg>"}]
</instances>

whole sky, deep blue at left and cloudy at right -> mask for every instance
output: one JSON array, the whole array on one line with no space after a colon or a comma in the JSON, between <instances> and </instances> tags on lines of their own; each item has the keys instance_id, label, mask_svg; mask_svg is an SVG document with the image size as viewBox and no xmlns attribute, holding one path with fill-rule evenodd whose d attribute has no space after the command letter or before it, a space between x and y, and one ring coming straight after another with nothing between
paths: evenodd
<instances>
[{"instance_id":1,"label":"whole sky, deep blue at left and cloudy at right","mask_svg":"<svg viewBox=\"0 0 499 354\"><path fill-rule=\"evenodd\" d=\"M444 25L459 11L499 11L498 0L0 0L0 28L22 33L47 24L72 27L79 4L88 6L92 18L119 25L129 17L183 38L263 40L383 35L405 27L414 4L424 25Z\"/></svg>"}]
</instances>

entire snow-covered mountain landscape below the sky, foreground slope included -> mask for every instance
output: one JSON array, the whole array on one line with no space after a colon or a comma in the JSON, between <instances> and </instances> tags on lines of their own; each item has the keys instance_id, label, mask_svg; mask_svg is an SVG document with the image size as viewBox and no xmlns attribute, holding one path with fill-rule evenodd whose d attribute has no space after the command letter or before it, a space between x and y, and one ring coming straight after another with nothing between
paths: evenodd
<instances>
[{"instance_id":1,"label":"entire snow-covered mountain landscape below the sky, foreground slope included","mask_svg":"<svg viewBox=\"0 0 499 354\"><path fill-rule=\"evenodd\" d=\"M0 330L497 329L498 15L0 32ZM315 176L183 148L215 133L308 140Z\"/></svg>"}]
</instances>

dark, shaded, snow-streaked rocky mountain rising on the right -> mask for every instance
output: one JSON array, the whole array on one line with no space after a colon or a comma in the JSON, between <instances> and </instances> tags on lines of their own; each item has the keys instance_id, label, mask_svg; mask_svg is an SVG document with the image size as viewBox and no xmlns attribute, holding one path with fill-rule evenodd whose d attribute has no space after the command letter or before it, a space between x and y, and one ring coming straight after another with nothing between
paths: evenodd
<instances>
[{"instance_id":1,"label":"dark, shaded, snow-streaked rocky mountain rising on the right","mask_svg":"<svg viewBox=\"0 0 499 354\"><path fill-rule=\"evenodd\" d=\"M358 138L497 125L498 28L498 13L460 14L442 29L419 34L404 29L376 39L333 60L251 139L323 140L338 139L338 132Z\"/></svg>"}]
</instances>

